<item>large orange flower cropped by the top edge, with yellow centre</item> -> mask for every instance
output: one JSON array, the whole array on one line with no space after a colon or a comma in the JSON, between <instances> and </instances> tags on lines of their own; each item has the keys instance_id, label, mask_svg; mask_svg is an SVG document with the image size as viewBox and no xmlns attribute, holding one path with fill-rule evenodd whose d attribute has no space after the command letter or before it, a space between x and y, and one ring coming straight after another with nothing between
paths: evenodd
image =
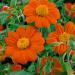
<instances>
[{"instance_id":1,"label":"large orange flower cropped by the top edge, with yellow centre","mask_svg":"<svg viewBox=\"0 0 75 75\"><path fill-rule=\"evenodd\" d=\"M51 23L56 24L60 18L58 8L48 0L30 0L24 7L23 14L26 16L27 23L34 22L38 28L48 28Z\"/></svg>"}]
</instances>

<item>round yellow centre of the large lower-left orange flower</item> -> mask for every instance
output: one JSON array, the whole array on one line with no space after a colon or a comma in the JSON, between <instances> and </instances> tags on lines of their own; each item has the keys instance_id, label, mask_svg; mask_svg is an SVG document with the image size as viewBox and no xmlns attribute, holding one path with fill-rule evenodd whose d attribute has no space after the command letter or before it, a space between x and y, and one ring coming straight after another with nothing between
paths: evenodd
<instances>
[{"instance_id":1,"label":"round yellow centre of the large lower-left orange flower","mask_svg":"<svg viewBox=\"0 0 75 75\"><path fill-rule=\"evenodd\" d=\"M28 38L21 38L17 42L17 47L20 49L25 49L29 46L29 39Z\"/></svg>"}]
</instances>

